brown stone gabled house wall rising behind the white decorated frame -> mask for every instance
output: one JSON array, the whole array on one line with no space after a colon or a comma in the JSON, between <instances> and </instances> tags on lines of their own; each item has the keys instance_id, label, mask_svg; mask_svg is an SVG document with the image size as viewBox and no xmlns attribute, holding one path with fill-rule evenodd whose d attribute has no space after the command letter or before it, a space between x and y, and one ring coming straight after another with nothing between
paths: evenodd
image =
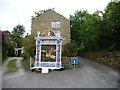
<instances>
[{"instance_id":1,"label":"brown stone gabled house wall rising behind the white decorated frame","mask_svg":"<svg viewBox=\"0 0 120 90\"><path fill-rule=\"evenodd\" d=\"M52 9L32 20L31 34L37 36L37 31L60 31L63 44L70 42L70 21Z\"/></svg>"}]
</instances>

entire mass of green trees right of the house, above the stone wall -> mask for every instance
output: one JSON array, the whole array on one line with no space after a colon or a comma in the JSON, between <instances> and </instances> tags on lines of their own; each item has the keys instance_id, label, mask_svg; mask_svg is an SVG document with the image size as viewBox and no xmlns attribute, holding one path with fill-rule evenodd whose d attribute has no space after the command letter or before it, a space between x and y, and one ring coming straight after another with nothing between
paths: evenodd
<instances>
[{"instance_id":1,"label":"entire mass of green trees right of the house, above the stone wall","mask_svg":"<svg viewBox=\"0 0 120 90\"><path fill-rule=\"evenodd\" d=\"M80 51L120 50L119 9L120 1L110 2L105 13L76 11L70 16L71 40L77 42Z\"/></svg>"}]
</instances>

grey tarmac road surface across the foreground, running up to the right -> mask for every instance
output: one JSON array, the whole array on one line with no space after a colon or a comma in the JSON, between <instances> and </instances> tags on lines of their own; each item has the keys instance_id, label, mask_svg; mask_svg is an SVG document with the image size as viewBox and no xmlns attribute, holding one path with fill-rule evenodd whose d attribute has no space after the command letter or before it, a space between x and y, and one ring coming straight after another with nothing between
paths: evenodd
<instances>
[{"instance_id":1,"label":"grey tarmac road surface across the foreground, running up to the right","mask_svg":"<svg viewBox=\"0 0 120 90\"><path fill-rule=\"evenodd\" d=\"M117 88L118 72L104 65L79 58L80 67L48 74L22 71L15 77L3 75L3 88ZM13 73L14 74L14 73Z\"/></svg>"}]
</instances>

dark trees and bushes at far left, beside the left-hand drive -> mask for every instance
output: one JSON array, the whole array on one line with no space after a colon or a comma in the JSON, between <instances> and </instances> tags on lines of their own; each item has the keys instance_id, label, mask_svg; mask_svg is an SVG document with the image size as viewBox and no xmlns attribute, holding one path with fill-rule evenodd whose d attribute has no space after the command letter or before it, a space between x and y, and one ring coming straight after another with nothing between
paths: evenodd
<instances>
[{"instance_id":1,"label":"dark trees and bushes at far left, beside the left-hand drive","mask_svg":"<svg viewBox=\"0 0 120 90\"><path fill-rule=\"evenodd\" d=\"M25 28L22 25L13 28L12 33L2 31L2 61L6 60L7 56L15 56L15 47L22 47L24 32Z\"/></svg>"}]
</instances>

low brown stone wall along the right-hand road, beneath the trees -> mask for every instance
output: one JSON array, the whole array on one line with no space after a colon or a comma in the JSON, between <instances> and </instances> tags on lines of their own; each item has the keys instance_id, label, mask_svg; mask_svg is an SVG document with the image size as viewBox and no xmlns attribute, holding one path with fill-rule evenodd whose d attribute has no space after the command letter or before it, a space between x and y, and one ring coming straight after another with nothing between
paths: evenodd
<instances>
[{"instance_id":1,"label":"low brown stone wall along the right-hand road, beneath the trees","mask_svg":"<svg viewBox=\"0 0 120 90\"><path fill-rule=\"evenodd\" d=\"M112 68L120 68L120 52L87 52L81 56Z\"/></svg>"}]
</instances>

